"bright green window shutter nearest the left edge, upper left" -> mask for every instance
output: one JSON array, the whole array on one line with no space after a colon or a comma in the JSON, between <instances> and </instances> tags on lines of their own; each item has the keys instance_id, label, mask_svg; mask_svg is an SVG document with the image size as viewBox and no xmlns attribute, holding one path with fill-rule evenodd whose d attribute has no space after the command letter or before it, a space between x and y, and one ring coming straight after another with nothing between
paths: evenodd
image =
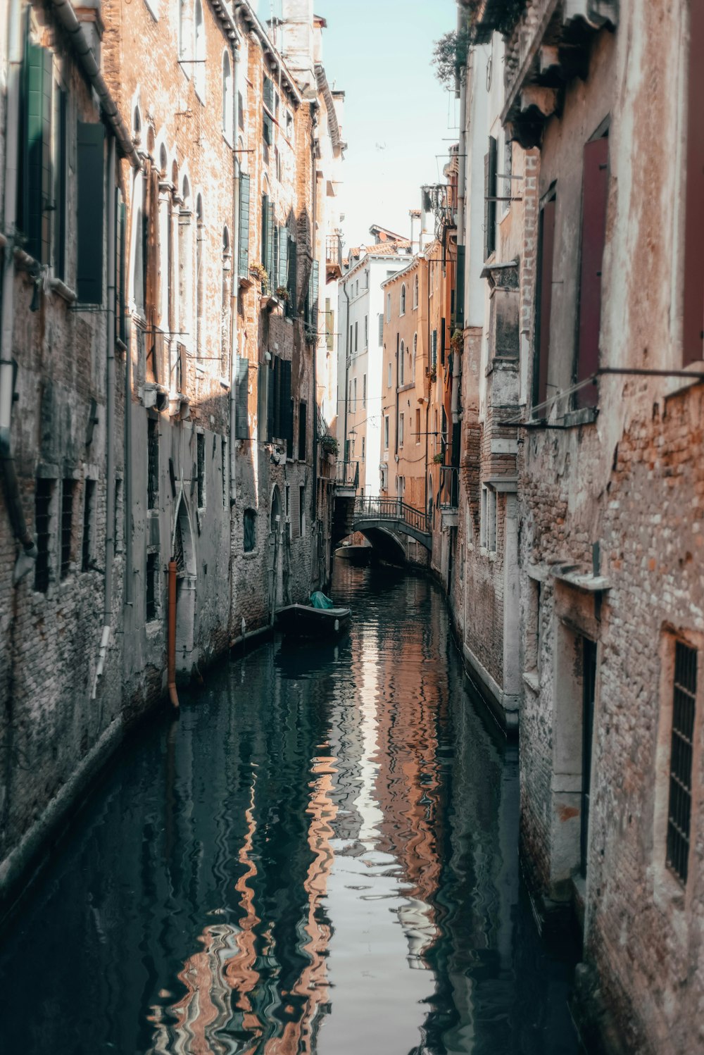
<instances>
[{"instance_id":1,"label":"bright green window shutter nearest the left edge, upper left","mask_svg":"<svg viewBox=\"0 0 704 1055\"><path fill-rule=\"evenodd\" d=\"M27 42L25 53L25 114L22 187L22 225L25 249L48 262L52 195L52 53Z\"/></svg>"}]
</instances>

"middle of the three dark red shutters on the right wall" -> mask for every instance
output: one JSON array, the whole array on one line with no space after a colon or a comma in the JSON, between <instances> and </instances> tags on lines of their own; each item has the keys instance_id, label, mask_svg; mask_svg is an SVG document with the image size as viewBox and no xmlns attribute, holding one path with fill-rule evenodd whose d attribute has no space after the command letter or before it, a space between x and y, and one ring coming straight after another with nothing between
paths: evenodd
<instances>
[{"instance_id":1,"label":"middle of the three dark red shutters on the right wall","mask_svg":"<svg viewBox=\"0 0 704 1055\"><path fill-rule=\"evenodd\" d=\"M576 381L584 381L599 367L608 159L609 141L607 138L592 139L585 145ZM597 396L597 385L586 385L576 394L578 406L595 406Z\"/></svg>"}]
</instances>

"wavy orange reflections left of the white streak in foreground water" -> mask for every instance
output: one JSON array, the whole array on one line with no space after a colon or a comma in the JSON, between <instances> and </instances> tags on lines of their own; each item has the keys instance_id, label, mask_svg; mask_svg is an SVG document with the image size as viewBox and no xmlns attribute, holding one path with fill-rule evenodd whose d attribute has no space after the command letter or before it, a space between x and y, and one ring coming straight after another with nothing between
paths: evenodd
<instances>
[{"instance_id":1,"label":"wavy orange reflections left of the white streak in foreground water","mask_svg":"<svg viewBox=\"0 0 704 1055\"><path fill-rule=\"evenodd\" d=\"M255 776L238 853L236 889L241 917L237 926L218 923L204 928L199 938L203 948L187 959L178 975L187 992L170 1009L171 1018L154 1009L155 1055L224 1055L235 1050L233 1040L241 1044L237 1050L251 1051L256 1044L256 1051L266 1055L307 1055L315 1050L319 1018L328 1008L326 956L330 924L322 912L322 899L333 861L330 841L336 813L330 797L334 772L331 762L329 756L313 757L313 780L297 782L299 788L309 788L308 805L296 801L294 808L300 816L308 816L306 843L310 855L300 884L305 900L293 920L296 955L291 955L280 934L290 907L280 899L277 915L276 906L267 897L263 868L257 868L261 858L257 850L262 836L263 842L269 840L266 829L272 809L276 810L281 800L281 788L271 794L270 784L261 790L257 803ZM298 800L294 787L291 794ZM283 879L287 889L296 887L301 863L300 850L294 847L288 875L277 877ZM287 967L294 958L298 968L291 975Z\"/></svg>"}]
</instances>

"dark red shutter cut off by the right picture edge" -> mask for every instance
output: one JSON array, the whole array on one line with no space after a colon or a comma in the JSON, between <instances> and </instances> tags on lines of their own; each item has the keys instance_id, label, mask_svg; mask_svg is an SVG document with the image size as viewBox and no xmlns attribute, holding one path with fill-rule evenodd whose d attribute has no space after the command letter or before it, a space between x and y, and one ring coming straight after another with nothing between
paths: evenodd
<instances>
[{"instance_id":1,"label":"dark red shutter cut off by the right picture edge","mask_svg":"<svg viewBox=\"0 0 704 1055\"><path fill-rule=\"evenodd\" d=\"M704 4L689 4L687 191L684 242L683 364L702 359L704 337Z\"/></svg>"}]
</instances>

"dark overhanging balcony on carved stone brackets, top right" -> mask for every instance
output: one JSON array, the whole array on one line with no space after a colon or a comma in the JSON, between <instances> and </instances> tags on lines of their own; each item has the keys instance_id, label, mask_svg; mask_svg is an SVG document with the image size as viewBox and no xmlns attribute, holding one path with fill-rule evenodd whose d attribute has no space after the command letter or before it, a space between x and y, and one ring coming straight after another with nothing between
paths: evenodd
<instances>
[{"instance_id":1,"label":"dark overhanging balcony on carved stone brackets, top right","mask_svg":"<svg viewBox=\"0 0 704 1055\"><path fill-rule=\"evenodd\" d=\"M529 150L559 111L565 84L586 76L594 34L615 27L618 0L527 0L512 25L502 6L484 0L474 37L488 39L493 30L506 34L502 121L511 124L517 142Z\"/></svg>"}]
</instances>

